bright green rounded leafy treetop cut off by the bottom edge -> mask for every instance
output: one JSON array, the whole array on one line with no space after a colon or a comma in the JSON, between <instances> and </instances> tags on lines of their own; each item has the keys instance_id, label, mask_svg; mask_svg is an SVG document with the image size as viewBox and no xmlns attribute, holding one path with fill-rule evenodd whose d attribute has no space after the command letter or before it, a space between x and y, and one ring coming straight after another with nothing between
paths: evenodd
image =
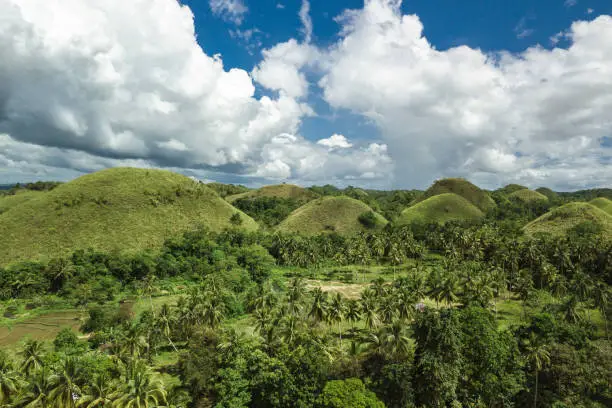
<instances>
[{"instance_id":1,"label":"bright green rounded leafy treetop cut off by the bottom edge","mask_svg":"<svg viewBox=\"0 0 612 408\"><path fill-rule=\"evenodd\" d=\"M328 381L317 400L320 408L384 408L376 394L368 391L359 378Z\"/></svg>"}]
</instances>

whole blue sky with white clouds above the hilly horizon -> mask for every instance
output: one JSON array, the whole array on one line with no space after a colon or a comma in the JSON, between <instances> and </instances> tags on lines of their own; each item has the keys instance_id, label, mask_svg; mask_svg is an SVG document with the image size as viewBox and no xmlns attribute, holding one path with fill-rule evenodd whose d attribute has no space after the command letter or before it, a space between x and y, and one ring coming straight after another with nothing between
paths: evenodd
<instances>
[{"instance_id":1,"label":"whole blue sky with white clouds above the hilly horizon","mask_svg":"<svg viewBox=\"0 0 612 408\"><path fill-rule=\"evenodd\" d=\"M0 0L0 184L612 186L609 0Z\"/></svg>"}]
</instances>

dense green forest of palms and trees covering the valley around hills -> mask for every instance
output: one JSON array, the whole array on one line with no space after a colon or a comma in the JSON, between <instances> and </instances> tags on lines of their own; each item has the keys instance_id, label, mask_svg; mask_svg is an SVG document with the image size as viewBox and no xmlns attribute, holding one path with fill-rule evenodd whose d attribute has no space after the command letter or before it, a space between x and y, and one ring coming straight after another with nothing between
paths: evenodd
<instances>
[{"instance_id":1,"label":"dense green forest of palms and trees covering the valley around hills","mask_svg":"<svg viewBox=\"0 0 612 408\"><path fill-rule=\"evenodd\" d=\"M228 228L193 225L161 248L0 268L6 333L49 311L82 317L47 339L3 342L0 331L0 406L612 405L608 221L527 227L548 217L551 228L565 214L554 211L606 190L509 186L482 192L482 217L436 222L406 210L443 189L210 188L261 228L236 212ZM327 196L370 208L362 230L275 229Z\"/></svg>"}]
</instances>

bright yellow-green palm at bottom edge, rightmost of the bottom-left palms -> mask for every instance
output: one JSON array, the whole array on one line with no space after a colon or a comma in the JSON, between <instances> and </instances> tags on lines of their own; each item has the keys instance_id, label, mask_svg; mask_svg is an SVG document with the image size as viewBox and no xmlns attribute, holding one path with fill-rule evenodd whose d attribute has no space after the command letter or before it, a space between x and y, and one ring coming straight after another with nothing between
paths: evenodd
<instances>
[{"instance_id":1,"label":"bright yellow-green palm at bottom edge, rightmost of the bottom-left palms","mask_svg":"<svg viewBox=\"0 0 612 408\"><path fill-rule=\"evenodd\" d=\"M113 394L116 408L149 408L166 403L166 390L161 380L154 379L142 361L138 361L127 383Z\"/></svg>"}]
</instances>

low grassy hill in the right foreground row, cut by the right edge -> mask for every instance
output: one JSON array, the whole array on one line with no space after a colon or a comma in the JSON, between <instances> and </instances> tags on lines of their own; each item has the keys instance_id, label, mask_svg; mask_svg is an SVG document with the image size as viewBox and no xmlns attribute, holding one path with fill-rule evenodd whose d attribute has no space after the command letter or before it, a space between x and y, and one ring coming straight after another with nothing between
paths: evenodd
<instances>
[{"instance_id":1,"label":"low grassy hill in the right foreground row, cut by the right edge","mask_svg":"<svg viewBox=\"0 0 612 408\"><path fill-rule=\"evenodd\" d=\"M582 202L555 208L527 224L524 229L530 235L536 233L564 235L587 221L601 227L603 235L612 236L612 216L589 203Z\"/></svg>"}]
</instances>

